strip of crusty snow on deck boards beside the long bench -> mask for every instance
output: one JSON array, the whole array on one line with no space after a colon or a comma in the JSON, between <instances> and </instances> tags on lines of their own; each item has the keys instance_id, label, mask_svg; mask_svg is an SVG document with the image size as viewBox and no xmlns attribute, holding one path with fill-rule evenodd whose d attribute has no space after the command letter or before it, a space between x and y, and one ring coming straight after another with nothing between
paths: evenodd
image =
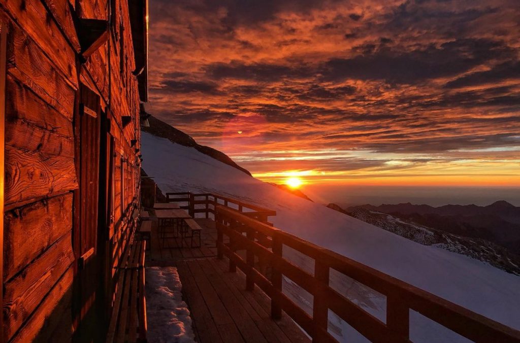
<instances>
[{"instance_id":1,"label":"strip of crusty snow on deck boards beside the long bench","mask_svg":"<svg viewBox=\"0 0 520 343\"><path fill-rule=\"evenodd\" d=\"M149 342L194 342L190 312L183 301L181 287L177 268L146 268Z\"/></svg>"}]
</instances>

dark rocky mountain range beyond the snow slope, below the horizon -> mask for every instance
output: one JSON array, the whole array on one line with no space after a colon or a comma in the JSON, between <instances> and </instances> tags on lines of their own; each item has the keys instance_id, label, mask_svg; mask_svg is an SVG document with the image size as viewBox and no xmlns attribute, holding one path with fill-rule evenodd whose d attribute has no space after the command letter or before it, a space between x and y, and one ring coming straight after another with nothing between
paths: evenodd
<instances>
[{"instance_id":1,"label":"dark rocky mountain range beyond the snow slope, below the horizon","mask_svg":"<svg viewBox=\"0 0 520 343\"><path fill-rule=\"evenodd\" d=\"M328 207L424 245L438 245L520 275L520 207L360 205Z\"/></svg>"}]
</instances>

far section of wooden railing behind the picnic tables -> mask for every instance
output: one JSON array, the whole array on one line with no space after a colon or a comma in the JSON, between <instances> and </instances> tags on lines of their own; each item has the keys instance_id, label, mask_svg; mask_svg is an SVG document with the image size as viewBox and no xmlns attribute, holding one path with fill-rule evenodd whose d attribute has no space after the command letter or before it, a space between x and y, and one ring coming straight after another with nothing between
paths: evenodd
<instances>
[{"instance_id":1,"label":"far section of wooden railing behind the picnic tables","mask_svg":"<svg viewBox=\"0 0 520 343\"><path fill-rule=\"evenodd\" d=\"M215 215L215 206L217 205L234 209L244 216L255 218L268 225L272 225L268 221L268 217L276 216L274 210L213 193L166 193L166 199L168 202L186 203L187 205L182 205L180 208L187 209L189 215L193 218L198 213L204 214L205 218L210 218L210 214Z\"/></svg>"}]
</instances>

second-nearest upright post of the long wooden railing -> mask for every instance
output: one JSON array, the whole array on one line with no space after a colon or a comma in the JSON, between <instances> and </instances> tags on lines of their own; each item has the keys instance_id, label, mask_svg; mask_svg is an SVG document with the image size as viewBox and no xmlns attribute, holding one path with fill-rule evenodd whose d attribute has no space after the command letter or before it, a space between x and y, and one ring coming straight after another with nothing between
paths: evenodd
<instances>
[{"instance_id":1,"label":"second-nearest upright post of the long wooden railing","mask_svg":"<svg viewBox=\"0 0 520 343\"><path fill-rule=\"evenodd\" d=\"M330 279L329 266L316 260L314 262L314 278L317 286L328 286ZM329 328L329 307L325 303L323 293L320 292L320 287L315 287L315 292L313 294L313 321L316 327L313 342L316 342L320 341L321 332L327 332Z\"/></svg>"}]
</instances>

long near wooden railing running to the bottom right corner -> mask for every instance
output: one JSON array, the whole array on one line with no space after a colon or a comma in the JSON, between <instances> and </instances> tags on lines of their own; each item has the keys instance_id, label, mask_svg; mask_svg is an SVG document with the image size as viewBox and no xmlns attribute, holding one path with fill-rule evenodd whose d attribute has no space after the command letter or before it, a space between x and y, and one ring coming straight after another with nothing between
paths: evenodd
<instances>
[{"instance_id":1,"label":"long near wooden railing running to the bottom right corner","mask_svg":"<svg viewBox=\"0 0 520 343\"><path fill-rule=\"evenodd\" d=\"M263 289L271 298L272 318L279 319L283 310L313 341L335 341L328 332L329 309L374 342L409 341L410 310L474 341L520 341L520 332L508 326L254 220L237 210L217 205L214 213L218 258L227 256L230 271L236 271L239 267L245 273L247 289L252 290L255 284ZM224 244L224 235L229 237L228 244ZM314 259L314 275L283 258L283 246ZM245 250L245 260L237 254L238 250ZM255 267L255 256L271 267L270 278ZM331 268L386 296L386 322L331 288ZM313 295L312 316L282 292L282 275Z\"/></svg>"}]
</instances>

